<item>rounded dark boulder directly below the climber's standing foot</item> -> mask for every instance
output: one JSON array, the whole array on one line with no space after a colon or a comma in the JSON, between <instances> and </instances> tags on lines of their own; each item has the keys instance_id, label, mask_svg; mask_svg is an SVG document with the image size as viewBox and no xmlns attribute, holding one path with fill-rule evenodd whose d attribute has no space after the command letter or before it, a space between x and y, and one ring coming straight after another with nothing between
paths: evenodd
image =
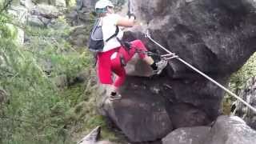
<instances>
[{"instance_id":1,"label":"rounded dark boulder directly below the climber's standing foot","mask_svg":"<svg viewBox=\"0 0 256 144\"><path fill-rule=\"evenodd\" d=\"M173 126L164 106L164 98L156 94L159 92L159 86L149 90L145 85L134 85L134 80L127 82L130 85L122 88L125 90L122 91L122 100L112 102L104 98L102 112L108 115L132 142L154 141L164 137ZM110 94L107 88L106 91L104 89L102 87L102 94Z\"/></svg>"}]
</instances>

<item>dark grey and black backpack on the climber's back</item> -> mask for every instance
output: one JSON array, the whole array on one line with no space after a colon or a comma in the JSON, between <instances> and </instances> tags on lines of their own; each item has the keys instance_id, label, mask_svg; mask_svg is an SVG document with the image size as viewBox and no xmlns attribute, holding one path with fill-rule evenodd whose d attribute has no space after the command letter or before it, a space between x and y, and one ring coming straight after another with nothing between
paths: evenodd
<instances>
[{"instance_id":1,"label":"dark grey and black backpack on the climber's back","mask_svg":"<svg viewBox=\"0 0 256 144\"><path fill-rule=\"evenodd\" d=\"M104 47L102 25L99 25L99 22L101 22L100 18L98 18L94 22L94 26L92 30L90 30L89 50L93 52L100 52L103 50L103 47ZM118 35L118 32L119 32L119 28L117 26L115 33L111 35L110 38L107 38L106 42L108 42L111 38L116 37Z\"/></svg>"}]
</instances>

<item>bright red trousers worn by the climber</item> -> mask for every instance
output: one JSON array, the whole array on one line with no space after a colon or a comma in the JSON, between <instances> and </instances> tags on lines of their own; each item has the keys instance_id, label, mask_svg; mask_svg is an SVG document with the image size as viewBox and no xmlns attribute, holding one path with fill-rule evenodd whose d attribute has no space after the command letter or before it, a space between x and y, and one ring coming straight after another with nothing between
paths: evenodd
<instances>
[{"instance_id":1,"label":"bright red trousers worn by the climber","mask_svg":"<svg viewBox=\"0 0 256 144\"><path fill-rule=\"evenodd\" d=\"M122 84L125 82L126 70L122 66L120 60L121 57L127 63L138 50L141 51L141 53L138 53L140 58L146 57L146 54L143 53L143 51L147 51L147 49L142 41L135 40L130 43L131 47L129 51L120 46L113 50L98 53L98 78L102 84L114 84L114 86L119 87L122 86ZM114 53L116 53L116 57L111 59L111 56ZM114 82L112 80L112 72L117 75L117 77L114 79Z\"/></svg>"}]
</instances>

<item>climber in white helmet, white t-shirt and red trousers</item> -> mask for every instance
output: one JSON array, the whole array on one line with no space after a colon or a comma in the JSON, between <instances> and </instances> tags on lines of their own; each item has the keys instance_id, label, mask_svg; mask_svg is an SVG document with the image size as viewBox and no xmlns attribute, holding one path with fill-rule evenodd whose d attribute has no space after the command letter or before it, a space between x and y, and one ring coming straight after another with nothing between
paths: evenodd
<instances>
[{"instance_id":1,"label":"climber in white helmet, white t-shirt and red trousers","mask_svg":"<svg viewBox=\"0 0 256 144\"><path fill-rule=\"evenodd\" d=\"M118 94L118 88L122 86L126 79L124 63L129 62L134 54L139 51L139 57L152 67L154 74L160 74L166 67L167 62L166 60L154 62L154 59L145 53L148 50L140 40L130 42L130 46L122 45L120 39L122 39L123 32L118 26L134 26L134 14L130 14L130 18L122 18L118 14L114 14L114 5L109 0L99 0L95 5L95 10L102 24L104 40L103 50L97 54L98 78L102 84L112 86L110 100L121 99L122 96ZM118 34L115 38L110 38L117 31L117 27ZM110 40L106 41L108 38ZM117 75L114 82L112 80L112 72Z\"/></svg>"}]
</instances>

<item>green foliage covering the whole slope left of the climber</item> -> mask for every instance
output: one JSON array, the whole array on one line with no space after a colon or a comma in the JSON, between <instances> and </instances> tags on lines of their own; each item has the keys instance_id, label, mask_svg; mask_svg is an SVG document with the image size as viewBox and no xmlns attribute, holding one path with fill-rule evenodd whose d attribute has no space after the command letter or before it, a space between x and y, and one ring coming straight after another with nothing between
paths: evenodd
<instances>
[{"instance_id":1,"label":"green foliage covering the whole slope left of the climber","mask_svg":"<svg viewBox=\"0 0 256 144\"><path fill-rule=\"evenodd\" d=\"M8 94L0 102L0 143L74 143L98 125L103 138L116 140L95 110L92 56L66 41L72 28L65 18L58 18L53 28L26 27L24 46L18 46L17 33L6 26L11 18L0 18L0 88ZM86 82L55 86L58 75L72 79L82 70L89 71Z\"/></svg>"}]
</instances>

